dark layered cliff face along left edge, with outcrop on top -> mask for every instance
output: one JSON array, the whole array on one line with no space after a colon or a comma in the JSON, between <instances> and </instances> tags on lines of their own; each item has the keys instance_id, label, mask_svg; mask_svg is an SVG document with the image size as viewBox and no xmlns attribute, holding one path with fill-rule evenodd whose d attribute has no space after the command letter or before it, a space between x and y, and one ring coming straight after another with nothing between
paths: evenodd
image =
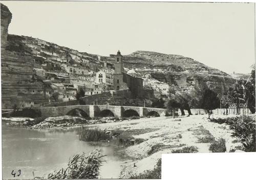
<instances>
[{"instance_id":1,"label":"dark layered cliff face along left edge, with outcrop on top","mask_svg":"<svg viewBox=\"0 0 256 180\"><path fill-rule=\"evenodd\" d=\"M33 59L20 36L8 35L12 14L1 4L2 108L46 102L44 84L33 78Z\"/></svg>"}]
</instances>

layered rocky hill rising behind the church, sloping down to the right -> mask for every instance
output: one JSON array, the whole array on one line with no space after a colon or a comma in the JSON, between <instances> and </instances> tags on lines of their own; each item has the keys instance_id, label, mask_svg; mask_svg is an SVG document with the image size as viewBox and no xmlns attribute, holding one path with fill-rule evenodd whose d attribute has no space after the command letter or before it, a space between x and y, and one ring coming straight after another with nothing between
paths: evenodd
<instances>
[{"instance_id":1,"label":"layered rocky hill rising behind the church, sloping down to the right","mask_svg":"<svg viewBox=\"0 0 256 180\"><path fill-rule=\"evenodd\" d=\"M180 55L136 51L124 57L124 66L140 68L141 74L149 73L152 78L169 85L187 87L193 84L206 84L219 94L236 81L223 71Z\"/></svg>"}]
</instances>

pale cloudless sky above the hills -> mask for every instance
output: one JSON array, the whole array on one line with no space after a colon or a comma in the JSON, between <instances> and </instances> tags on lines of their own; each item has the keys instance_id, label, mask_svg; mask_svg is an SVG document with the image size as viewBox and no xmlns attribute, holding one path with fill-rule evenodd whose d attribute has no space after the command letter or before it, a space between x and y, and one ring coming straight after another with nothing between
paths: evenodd
<instances>
[{"instance_id":1,"label":"pale cloudless sky above the hills","mask_svg":"<svg viewBox=\"0 0 256 180\"><path fill-rule=\"evenodd\" d=\"M253 3L7 2L9 34L101 56L182 55L227 73L255 63Z\"/></svg>"}]
</instances>

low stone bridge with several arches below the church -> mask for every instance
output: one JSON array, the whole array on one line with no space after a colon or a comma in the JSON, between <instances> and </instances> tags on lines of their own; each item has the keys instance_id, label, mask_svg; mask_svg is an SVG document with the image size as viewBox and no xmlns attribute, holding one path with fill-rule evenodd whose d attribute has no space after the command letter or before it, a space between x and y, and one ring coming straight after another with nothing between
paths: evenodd
<instances>
[{"instance_id":1,"label":"low stone bridge with several arches below the church","mask_svg":"<svg viewBox=\"0 0 256 180\"><path fill-rule=\"evenodd\" d=\"M127 114L136 116L164 116L165 109L147 108L147 107L132 107L132 106L105 106L105 105L76 105L62 107L46 107L38 108L41 111L41 117L56 117L65 116L74 110L82 111L88 117L104 116L106 113L113 113L115 117L125 117Z\"/></svg>"}]
</instances>

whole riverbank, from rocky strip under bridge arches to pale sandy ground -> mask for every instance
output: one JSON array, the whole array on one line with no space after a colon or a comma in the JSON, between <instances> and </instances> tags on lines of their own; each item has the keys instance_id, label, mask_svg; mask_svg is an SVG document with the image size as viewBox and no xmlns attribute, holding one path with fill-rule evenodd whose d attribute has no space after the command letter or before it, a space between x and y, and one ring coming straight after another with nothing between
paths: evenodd
<instances>
[{"instance_id":1,"label":"whole riverbank, from rocky strip under bridge arches to pale sandy ground","mask_svg":"<svg viewBox=\"0 0 256 180\"><path fill-rule=\"evenodd\" d=\"M211 118L227 117L231 116L214 116ZM20 122L23 121L26 119L20 119ZM230 130L229 125L211 122L207 115L192 115L174 119L172 117L153 117L123 121L117 121L115 118L86 120L72 116L61 116L45 119L33 125L33 128L37 126L38 128L54 129L63 124L100 128L100 130L118 139L119 144L125 146L122 150L123 153L129 156L121 164L120 178L130 178L146 170L153 170L158 160L161 159L162 153L211 152L209 150L210 144L219 139L224 139L224 151L226 152L233 152L241 147L241 143L236 138L231 137L233 131Z\"/></svg>"}]
</instances>

